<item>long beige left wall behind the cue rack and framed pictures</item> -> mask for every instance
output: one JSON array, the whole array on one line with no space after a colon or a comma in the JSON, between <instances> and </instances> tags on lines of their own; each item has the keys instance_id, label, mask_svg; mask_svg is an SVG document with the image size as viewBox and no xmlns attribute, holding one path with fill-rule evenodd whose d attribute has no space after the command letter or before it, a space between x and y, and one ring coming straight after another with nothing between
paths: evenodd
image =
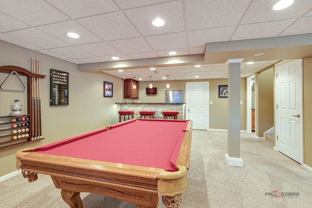
<instances>
[{"instance_id":1,"label":"long beige left wall behind the cue rack and framed pictures","mask_svg":"<svg viewBox=\"0 0 312 208\"><path fill-rule=\"evenodd\" d=\"M0 176L16 170L15 152L20 149L34 147L118 122L118 106L115 103L122 101L122 79L100 72L80 72L77 70L77 64L0 41L0 66L15 65L29 70L31 69L31 57L40 59L41 74L46 75L41 80L42 135L45 139L28 145L0 150ZM69 72L69 106L50 106L49 72L51 68ZM2 75L0 74L3 79ZM103 81L114 83L113 98L103 97ZM20 97L20 93L0 91L0 115L7 115L10 112L10 105L17 98L26 104L25 96Z\"/></svg>"}]
</instances>

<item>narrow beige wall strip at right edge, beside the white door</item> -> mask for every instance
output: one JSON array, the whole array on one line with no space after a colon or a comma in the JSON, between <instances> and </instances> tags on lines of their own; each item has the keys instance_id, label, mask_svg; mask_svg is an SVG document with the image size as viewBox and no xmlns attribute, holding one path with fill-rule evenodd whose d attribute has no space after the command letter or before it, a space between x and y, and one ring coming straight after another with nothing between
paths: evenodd
<instances>
[{"instance_id":1,"label":"narrow beige wall strip at right edge, beside the white door","mask_svg":"<svg viewBox=\"0 0 312 208\"><path fill-rule=\"evenodd\" d=\"M312 57L303 59L303 152L304 164L312 167Z\"/></svg>"}]
</instances>

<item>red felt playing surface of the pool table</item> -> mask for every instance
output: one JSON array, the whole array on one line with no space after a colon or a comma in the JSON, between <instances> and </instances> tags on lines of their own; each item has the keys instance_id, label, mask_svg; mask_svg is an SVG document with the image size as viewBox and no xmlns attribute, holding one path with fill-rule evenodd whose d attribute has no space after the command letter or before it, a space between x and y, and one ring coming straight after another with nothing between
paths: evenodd
<instances>
[{"instance_id":1,"label":"red felt playing surface of the pool table","mask_svg":"<svg viewBox=\"0 0 312 208\"><path fill-rule=\"evenodd\" d=\"M140 119L35 148L35 152L176 171L188 121ZM174 131L173 131L174 130Z\"/></svg>"}]
</instances>

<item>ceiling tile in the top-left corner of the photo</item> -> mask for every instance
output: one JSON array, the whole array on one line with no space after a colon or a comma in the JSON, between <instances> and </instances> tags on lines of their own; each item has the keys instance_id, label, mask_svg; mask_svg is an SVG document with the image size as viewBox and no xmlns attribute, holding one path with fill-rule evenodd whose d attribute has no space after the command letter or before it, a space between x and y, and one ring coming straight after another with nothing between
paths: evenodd
<instances>
[{"instance_id":1,"label":"ceiling tile in the top-left corner of the photo","mask_svg":"<svg viewBox=\"0 0 312 208\"><path fill-rule=\"evenodd\" d=\"M28 0L1 0L0 5L0 12L31 26L50 24L69 19L66 15L43 0L36 0L34 2Z\"/></svg>"}]
</instances>

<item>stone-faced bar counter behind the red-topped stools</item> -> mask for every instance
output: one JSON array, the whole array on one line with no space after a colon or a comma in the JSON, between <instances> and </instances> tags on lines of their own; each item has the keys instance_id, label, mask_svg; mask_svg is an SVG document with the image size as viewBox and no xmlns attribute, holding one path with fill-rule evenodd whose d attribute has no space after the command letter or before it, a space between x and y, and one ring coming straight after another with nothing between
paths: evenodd
<instances>
[{"instance_id":1,"label":"stone-faced bar counter behind the red-topped stools","mask_svg":"<svg viewBox=\"0 0 312 208\"><path fill-rule=\"evenodd\" d=\"M185 119L185 103L116 103L119 110L135 111L135 118L140 117L139 111L156 111L155 118L163 118L162 111L178 111L177 119Z\"/></svg>"}]
</instances>

